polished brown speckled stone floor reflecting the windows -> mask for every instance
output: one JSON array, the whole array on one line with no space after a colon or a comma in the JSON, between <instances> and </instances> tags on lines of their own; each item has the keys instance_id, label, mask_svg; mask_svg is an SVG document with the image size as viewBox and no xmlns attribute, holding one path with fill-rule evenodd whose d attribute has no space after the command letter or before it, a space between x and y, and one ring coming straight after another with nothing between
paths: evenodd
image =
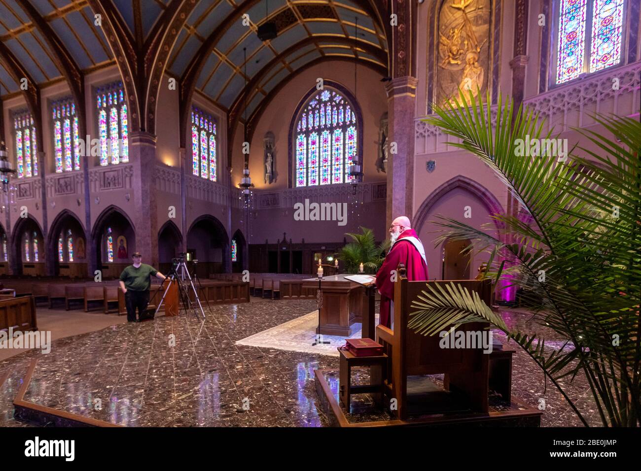
<instances>
[{"instance_id":1,"label":"polished brown speckled stone floor reflecting the windows","mask_svg":"<svg viewBox=\"0 0 641 471\"><path fill-rule=\"evenodd\" d=\"M26 352L0 361L0 426L13 419L26 367L38 365L25 400L124 426L326 426L313 370L338 368L338 358L235 342L315 309L315 301L255 301L214 306L206 321L156 318L56 340L50 354ZM528 313L505 310L510 325L531 324ZM551 345L552 346L552 345ZM569 381L569 380L568 380ZM546 388L547 386L547 388ZM567 390L591 425L599 425L585 379ZM545 401L542 426L581 422L537 365L517 347L513 395L531 406Z\"/></svg>"}]
</instances>

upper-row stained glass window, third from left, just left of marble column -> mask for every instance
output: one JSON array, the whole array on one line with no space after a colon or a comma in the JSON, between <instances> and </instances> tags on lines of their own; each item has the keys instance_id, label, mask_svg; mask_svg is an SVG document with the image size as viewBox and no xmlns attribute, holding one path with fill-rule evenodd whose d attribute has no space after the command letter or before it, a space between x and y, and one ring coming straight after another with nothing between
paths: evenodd
<instances>
[{"instance_id":1,"label":"upper-row stained glass window, third from left, just left of marble column","mask_svg":"<svg viewBox=\"0 0 641 471\"><path fill-rule=\"evenodd\" d=\"M129 126L122 82L96 90L100 165L129 161Z\"/></svg>"}]
</instances>

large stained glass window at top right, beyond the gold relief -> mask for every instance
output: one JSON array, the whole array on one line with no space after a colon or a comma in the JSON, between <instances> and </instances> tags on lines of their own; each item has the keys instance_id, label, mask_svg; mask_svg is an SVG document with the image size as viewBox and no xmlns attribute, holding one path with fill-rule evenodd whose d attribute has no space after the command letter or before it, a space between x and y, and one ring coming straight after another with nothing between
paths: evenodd
<instances>
[{"instance_id":1,"label":"large stained glass window at top right, beyond the gold relief","mask_svg":"<svg viewBox=\"0 0 641 471\"><path fill-rule=\"evenodd\" d=\"M625 0L559 0L556 83L621 61Z\"/></svg>"}]
</instances>

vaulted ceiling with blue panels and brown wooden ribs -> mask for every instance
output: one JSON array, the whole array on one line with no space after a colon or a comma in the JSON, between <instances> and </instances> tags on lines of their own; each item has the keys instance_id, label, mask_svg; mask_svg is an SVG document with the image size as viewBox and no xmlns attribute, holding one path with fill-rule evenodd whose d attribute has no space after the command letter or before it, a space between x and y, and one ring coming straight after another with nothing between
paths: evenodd
<instances>
[{"instance_id":1,"label":"vaulted ceiling with blue panels and brown wooden ribs","mask_svg":"<svg viewBox=\"0 0 641 471\"><path fill-rule=\"evenodd\" d=\"M175 24L170 13L191 3L164 70L237 115L245 100L251 115L287 76L312 63L336 58L381 72L388 67L376 0L97 1L141 52ZM84 74L115 63L92 7L94 0L0 0L0 95L19 92L24 74L42 87L68 77L69 68ZM256 30L267 21L278 37L262 42Z\"/></svg>"}]
</instances>

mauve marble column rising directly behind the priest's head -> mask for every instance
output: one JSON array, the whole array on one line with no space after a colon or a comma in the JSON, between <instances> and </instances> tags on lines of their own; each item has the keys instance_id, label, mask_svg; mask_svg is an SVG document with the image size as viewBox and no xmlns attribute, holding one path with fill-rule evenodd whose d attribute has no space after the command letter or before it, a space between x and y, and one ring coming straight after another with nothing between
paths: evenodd
<instances>
[{"instance_id":1,"label":"mauve marble column rising directly behind the priest's head","mask_svg":"<svg viewBox=\"0 0 641 471\"><path fill-rule=\"evenodd\" d=\"M388 103L387 214L386 226L398 216L413 215L414 115L417 79L404 76L392 79L385 87Z\"/></svg>"}]
</instances>

